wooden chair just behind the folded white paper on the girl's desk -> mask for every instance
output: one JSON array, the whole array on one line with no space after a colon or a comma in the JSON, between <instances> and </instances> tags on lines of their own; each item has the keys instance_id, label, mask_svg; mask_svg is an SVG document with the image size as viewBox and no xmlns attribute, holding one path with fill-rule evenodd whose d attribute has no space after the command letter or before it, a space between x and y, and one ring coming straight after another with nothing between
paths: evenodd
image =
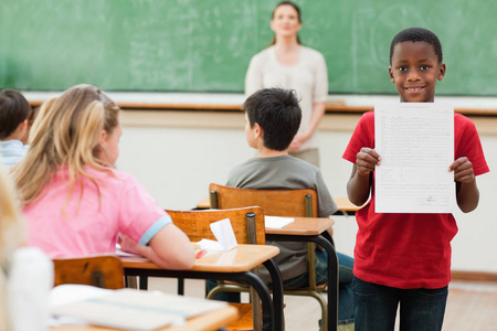
<instances>
[{"instance_id":1,"label":"wooden chair just behind the folded white paper on the girl's desk","mask_svg":"<svg viewBox=\"0 0 497 331\"><path fill-rule=\"evenodd\" d=\"M239 244L265 245L264 214L261 207L243 207L224 211L166 211L171 216L176 226L181 228L191 242L202 238L215 241L210 224L224 218L230 218L233 232ZM257 273L257 270L253 270ZM235 286L228 286L226 291L240 291ZM250 289L246 288L248 291ZM209 298L209 297L208 297ZM251 290L252 305L234 305L241 319L229 324L229 330L253 330L253 321L257 321L258 329L262 323L261 303L255 291ZM253 309L251 309L253 307Z\"/></svg>"}]
</instances>

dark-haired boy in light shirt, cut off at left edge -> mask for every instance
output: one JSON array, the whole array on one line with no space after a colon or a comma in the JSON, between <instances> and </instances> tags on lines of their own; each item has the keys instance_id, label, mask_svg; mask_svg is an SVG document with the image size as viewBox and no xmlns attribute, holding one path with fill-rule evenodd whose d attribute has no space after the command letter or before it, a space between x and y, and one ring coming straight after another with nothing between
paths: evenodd
<instances>
[{"instance_id":1,"label":"dark-haired boy in light shirt, cut off at left edge","mask_svg":"<svg viewBox=\"0 0 497 331\"><path fill-rule=\"evenodd\" d=\"M28 151L30 117L28 100L14 89L0 92L0 157L7 169L19 162Z\"/></svg>"}]
</instances>

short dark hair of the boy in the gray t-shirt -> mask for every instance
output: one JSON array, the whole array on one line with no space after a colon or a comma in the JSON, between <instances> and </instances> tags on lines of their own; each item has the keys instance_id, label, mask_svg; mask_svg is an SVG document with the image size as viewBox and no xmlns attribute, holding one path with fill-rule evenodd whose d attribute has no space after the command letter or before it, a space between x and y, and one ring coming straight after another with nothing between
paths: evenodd
<instances>
[{"instance_id":1,"label":"short dark hair of the boy in the gray t-shirt","mask_svg":"<svg viewBox=\"0 0 497 331\"><path fill-rule=\"evenodd\" d=\"M285 150L300 127L302 110L293 89L263 88L243 104L251 127L258 124L264 131L264 146Z\"/></svg>"}]
</instances>

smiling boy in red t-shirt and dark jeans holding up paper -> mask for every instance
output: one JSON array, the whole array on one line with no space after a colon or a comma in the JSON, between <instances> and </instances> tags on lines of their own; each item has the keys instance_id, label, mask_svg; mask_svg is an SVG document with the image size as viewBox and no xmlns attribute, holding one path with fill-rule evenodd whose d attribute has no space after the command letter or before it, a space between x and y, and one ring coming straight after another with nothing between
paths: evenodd
<instances>
[{"instance_id":1,"label":"smiling boy in red t-shirt and dark jeans holding up paper","mask_svg":"<svg viewBox=\"0 0 497 331\"><path fill-rule=\"evenodd\" d=\"M433 103L436 81L445 75L437 36L421 28L396 34L390 46L390 79L401 103ZM468 213L479 192L475 175L488 172L475 125L454 114L456 200ZM374 213L374 113L364 114L343 159L355 163L347 184L349 200L369 203L356 214L356 330L393 330L400 305L401 330L441 330L451 280L451 241L457 233L452 214Z\"/></svg>"}]
</instances>

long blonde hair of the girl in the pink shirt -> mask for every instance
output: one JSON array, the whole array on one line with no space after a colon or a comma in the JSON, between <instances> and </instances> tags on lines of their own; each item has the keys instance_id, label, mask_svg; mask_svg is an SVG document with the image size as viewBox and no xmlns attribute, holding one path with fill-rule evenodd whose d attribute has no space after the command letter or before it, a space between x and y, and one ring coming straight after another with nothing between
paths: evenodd
<instances>
[{"instance_id":1,"label":"long blonde hair of the girl in the pink shirt","mask_svg":"<svg viewBox=\"0 0 497 331\"><path fill-rule=\"evenodd\" d=\"M30 149L12 170L21 204L33 202L60 166L67 169L67 199L76 182L83 188L83 177L91 179L98 190L84 166L101 171L113 166L101 157L105 150L98 141L103 130L112 134L118 126L118 114L119 107L106 94L86 84L43 103L31 128Z\"/></svg>"}]
</instances>

